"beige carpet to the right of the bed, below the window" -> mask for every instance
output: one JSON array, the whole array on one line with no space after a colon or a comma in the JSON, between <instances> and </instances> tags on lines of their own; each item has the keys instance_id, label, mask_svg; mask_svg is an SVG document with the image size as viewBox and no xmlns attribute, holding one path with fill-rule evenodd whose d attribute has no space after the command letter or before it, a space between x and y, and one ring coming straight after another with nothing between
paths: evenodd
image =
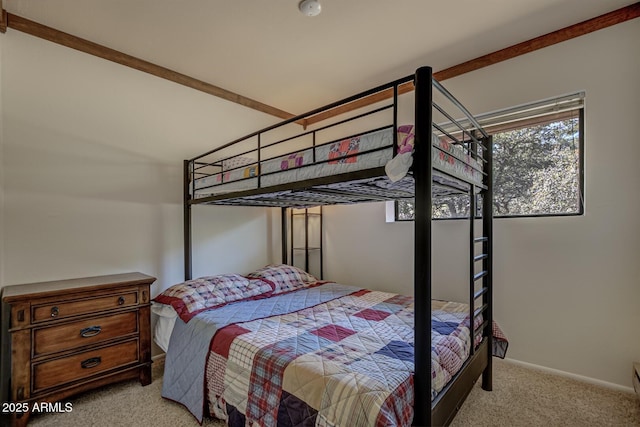
<instances>
[{"instance_id":1,"label":"beige carpet to the right of the bed, below the window","mask_svg":"<svg viewBox=\"0 0 640 427\"><path fill-rule=\"evenodd\" d=\"M493 391L479 380L452 426L640 426L634 393L493 360Z\"/></svg>"}]
</instances>

